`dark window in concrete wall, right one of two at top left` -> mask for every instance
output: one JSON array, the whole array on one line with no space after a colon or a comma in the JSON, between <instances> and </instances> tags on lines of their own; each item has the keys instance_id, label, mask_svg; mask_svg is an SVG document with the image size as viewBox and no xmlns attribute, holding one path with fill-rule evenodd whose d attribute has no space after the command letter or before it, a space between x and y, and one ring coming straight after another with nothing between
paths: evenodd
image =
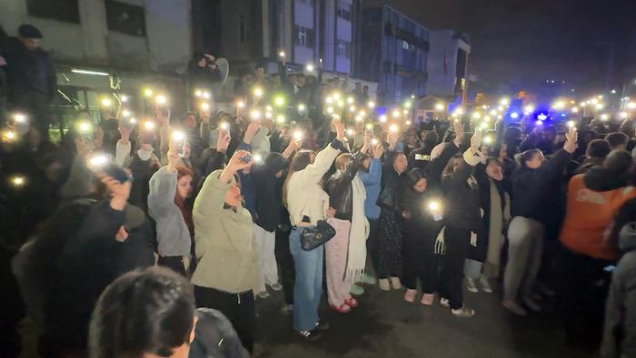
<instances>
[{"instance_id":1,"label":"dark window in concrete wall, right one of two at top left","mask_svg":"<svg viewBox=\"0 0 636 358\"><path fill-rule=\"evenodd\" d=\"M146 13L143 6L106 1L108 29L132 36L146 36Z\"/></svg>"}]
</instances>

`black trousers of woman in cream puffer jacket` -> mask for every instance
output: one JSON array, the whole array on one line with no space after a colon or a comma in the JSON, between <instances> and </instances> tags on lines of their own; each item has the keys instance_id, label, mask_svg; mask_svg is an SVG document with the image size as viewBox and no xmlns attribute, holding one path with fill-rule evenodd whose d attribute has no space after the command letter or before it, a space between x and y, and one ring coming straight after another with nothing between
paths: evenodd
<instances>
[{"instance_id":1,"label":"black trousers of woman in cream puffer jacket","mask_svg":"<svg viewBox=\"0 0 636 358\"><path fill-rule=\"evenodd\" d=\"M221 311L235 331L243 347L250 353L254 350L254 331L256 331L256 311L252 291L230 294L207 287L195 286L197 307L214 308Z\"/></svg>"}]
</instances>

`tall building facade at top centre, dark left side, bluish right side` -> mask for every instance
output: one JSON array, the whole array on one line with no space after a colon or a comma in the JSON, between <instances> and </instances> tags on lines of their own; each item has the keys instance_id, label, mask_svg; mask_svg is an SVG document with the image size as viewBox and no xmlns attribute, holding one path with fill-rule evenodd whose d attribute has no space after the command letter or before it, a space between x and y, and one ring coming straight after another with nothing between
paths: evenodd
<instances>
[{"instance_id":1,"label":"tall building facade at top centre, dark left side, bluish right side","mask_svg":"<svg viewBox=\"0 0 636 358\"><path fill-rule=\"evenodd\" d=\"M360 0L192 0L195 51L214 52L235 68L268 64L284 51L291 67L307 64L352 73L354 18ZM233 71L234 72L234 71Z\"/></svg>"}]
</instances>

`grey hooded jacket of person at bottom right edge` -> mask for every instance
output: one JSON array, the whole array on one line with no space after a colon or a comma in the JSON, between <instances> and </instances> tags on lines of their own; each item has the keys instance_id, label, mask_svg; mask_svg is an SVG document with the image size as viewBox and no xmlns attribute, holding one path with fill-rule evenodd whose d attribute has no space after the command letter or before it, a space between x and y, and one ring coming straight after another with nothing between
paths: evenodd
<instances>
[{"instance_id":1,"label":"grey hooded jacket of person at bottom right edge","mask_svg":"<svg viewBox=\"0 0 636 358\"><path fill-rule=\"evenodd\" d=\"M619 248L625 252L612 273L601 356L636 357L636 222L623 226Z\"/></svg>"}]
</instances>

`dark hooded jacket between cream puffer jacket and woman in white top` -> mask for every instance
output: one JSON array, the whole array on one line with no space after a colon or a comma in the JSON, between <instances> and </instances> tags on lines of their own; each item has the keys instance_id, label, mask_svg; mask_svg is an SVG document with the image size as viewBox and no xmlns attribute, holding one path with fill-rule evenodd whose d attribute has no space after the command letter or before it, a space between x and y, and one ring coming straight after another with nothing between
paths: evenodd
<instances>
[{"instance_id":1,"label":"dark hooded jacket between cream puffer jacket and woman in white top","mask_svg":"<svg viewBox=\"0 0 636 358\"><path fill-rule=\"evenodd\" d=\"M265 158L265 164L254 168L254 187L256 189L256 224L265 231L272 233L280 223L280 208L282 197L280 185L282 178L276 173L289 168L289 160L279 153L270 153ZM284 176L283 176L284 178Z\"/></svg>"}]
</instances>

